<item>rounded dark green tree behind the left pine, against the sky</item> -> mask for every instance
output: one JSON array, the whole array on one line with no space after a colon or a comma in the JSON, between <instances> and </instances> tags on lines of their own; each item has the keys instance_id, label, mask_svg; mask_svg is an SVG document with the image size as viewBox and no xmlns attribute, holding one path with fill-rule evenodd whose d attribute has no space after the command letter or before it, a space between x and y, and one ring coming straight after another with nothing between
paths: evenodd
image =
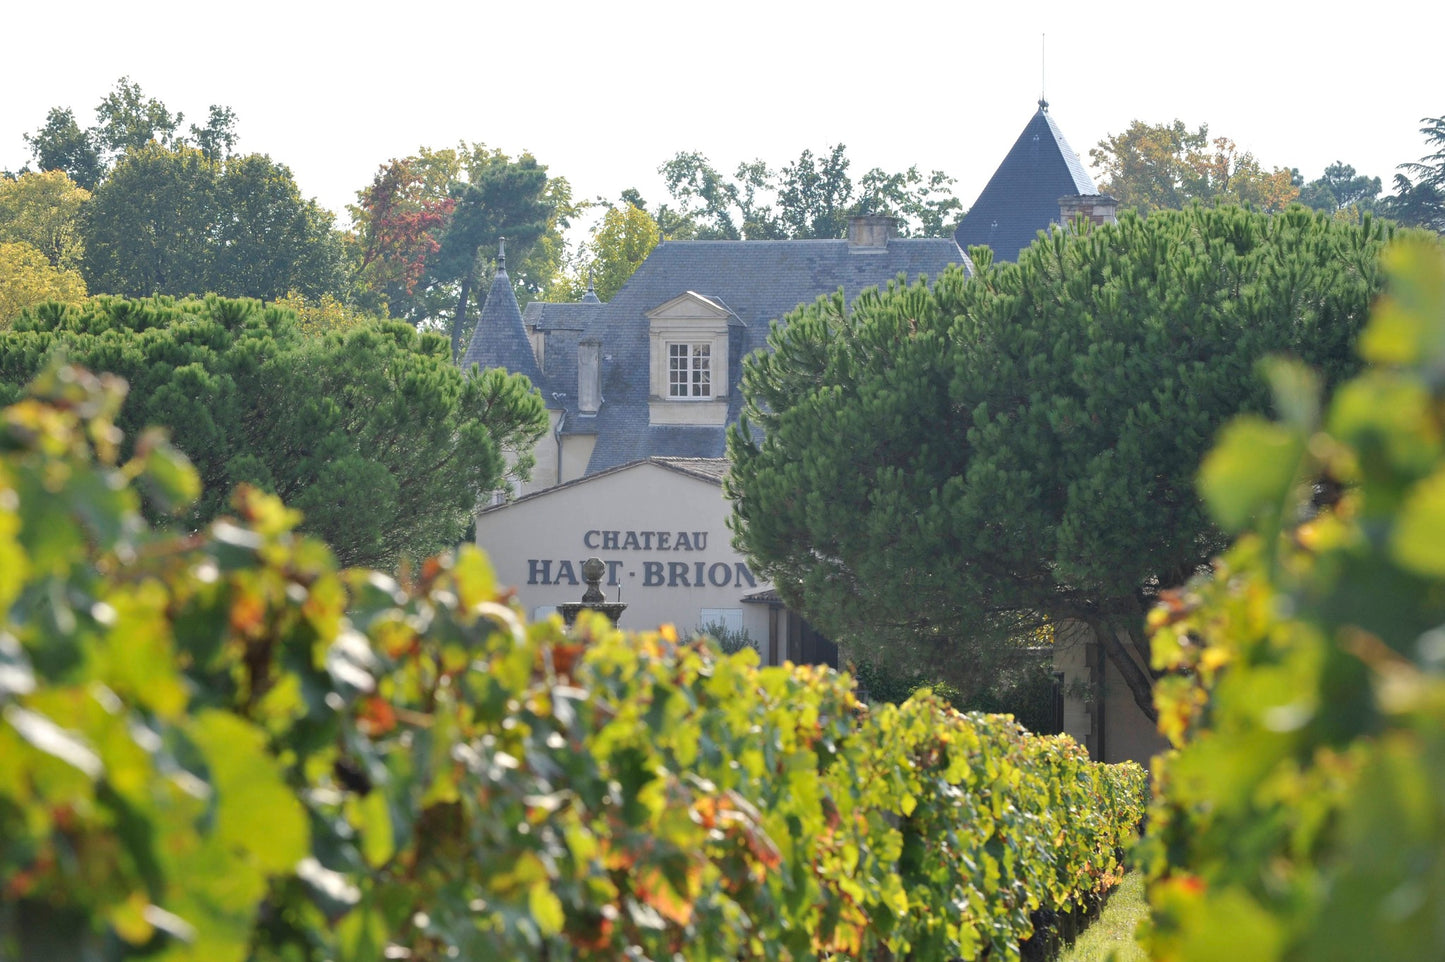
<instances>
[{"instance_id":1,"label":"rounded dark green tree behind the left pine, against the sky","mask_svg":"<svg viewBox=\"0 0 1445 962\"><path fill-rule=\"evenodd\" d=\"M91 290L273 299L347 286L329 212L263 155L208 159L188 146L130 150L84 218Z\"/></svg>"}]
</instances>

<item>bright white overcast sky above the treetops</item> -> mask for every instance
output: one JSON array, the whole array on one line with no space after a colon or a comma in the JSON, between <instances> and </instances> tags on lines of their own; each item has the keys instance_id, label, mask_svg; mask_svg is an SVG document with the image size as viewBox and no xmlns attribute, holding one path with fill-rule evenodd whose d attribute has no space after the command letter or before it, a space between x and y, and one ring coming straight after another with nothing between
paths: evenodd
<instances>
[{"instance_id":1,"label":"bright white overcast sky above the treetops","mask_svg":"<svg viewBox=\"0 0 1445 962\"><path fill-rule=\"evenodd\" d=\"M1131 120L1178 117L1266 168L1312 179L1341 159L1389 192L1425 153L1420 118L1445 114L1438 0L14 0L0 25L0 169L29 160L22 134L51 107L90 126L126 75L186 123L231 107L237 149L338 214L387 159L458 140L530 150L578 198L636 186L650 205L679 150L731 172L844 143L854 178L941 169L967 207L1040 82L1085 163Z\"/></svg>"}]
</instances>

